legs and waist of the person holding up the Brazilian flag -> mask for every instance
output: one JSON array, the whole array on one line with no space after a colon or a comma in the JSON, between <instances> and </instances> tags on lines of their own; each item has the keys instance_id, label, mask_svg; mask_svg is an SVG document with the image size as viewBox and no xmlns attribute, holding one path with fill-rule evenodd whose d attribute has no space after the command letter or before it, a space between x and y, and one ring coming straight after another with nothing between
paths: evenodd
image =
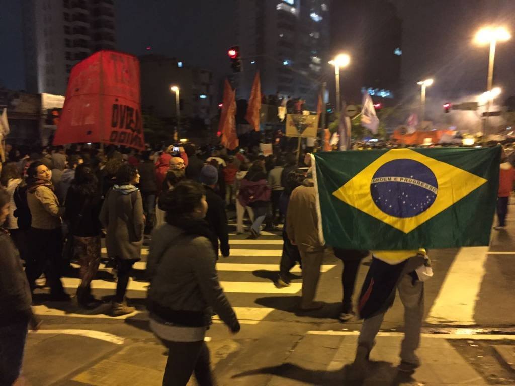
<instances>
[{"instance_id":1,"label":"legs and waist of the person holding up the Brazilian flag","mask_svg":"<svg viewBox=\"0 0 515 386\"><path fill-rule=\"evenodd\" d=\"M401 344L401 372L414 372L421 362L415 353L420 344L424 316L424 280L433 275L425 250L374 251L372 264L359 298L359 317L363 318L354 365L366 370L375 336L384 315L395 299L396 290L404 306L404 339Z\"/></svg>"}]
</instances>

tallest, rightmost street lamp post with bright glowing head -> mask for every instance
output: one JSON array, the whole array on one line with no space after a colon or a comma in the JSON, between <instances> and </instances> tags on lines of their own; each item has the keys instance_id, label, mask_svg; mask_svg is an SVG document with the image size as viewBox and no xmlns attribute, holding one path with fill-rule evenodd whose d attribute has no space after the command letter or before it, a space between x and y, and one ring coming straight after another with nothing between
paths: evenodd
<instances>
[{"instance_id":1,"label":"tallest, rightmost street lamp post with bright glowing head","mask_svg":"<svg viewBox=\"0 0 515 386\"><path fill-rule=\"evenodd\" d=\"M497 42L506 42L511 39L510 32L505 27L483 27L479 31L477 31L475 36L475 42L479 45L490 44L490 56L488 59L488 76L487 76L487 84L486 91L490 93L492 91L493 85L493 66L495 61L495 48L497 47ZM488 128L488 113L490 112L490 105L493 100L492 93L487 98L487 108L485 116L485 121L483 125L483 143L486 142L486 131Z\"/></svg>"}]
</instances>

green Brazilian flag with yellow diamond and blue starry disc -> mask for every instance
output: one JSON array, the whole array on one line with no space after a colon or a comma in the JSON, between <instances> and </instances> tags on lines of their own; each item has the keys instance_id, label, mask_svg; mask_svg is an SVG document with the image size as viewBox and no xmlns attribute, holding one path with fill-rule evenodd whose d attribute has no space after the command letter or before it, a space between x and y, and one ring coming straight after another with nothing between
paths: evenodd
<instances>
[{"instance_id":1,"label":"green Brazilian flag with yellow diamond and blue starry disc","mask_svg":"<svg viewBox=\"0 0 515 386\"><path fill-rule=\"evenodd\" d=\"M488 245L501 147L315 153L320 237L342 249Z\"/></svg>"}]
</instances>

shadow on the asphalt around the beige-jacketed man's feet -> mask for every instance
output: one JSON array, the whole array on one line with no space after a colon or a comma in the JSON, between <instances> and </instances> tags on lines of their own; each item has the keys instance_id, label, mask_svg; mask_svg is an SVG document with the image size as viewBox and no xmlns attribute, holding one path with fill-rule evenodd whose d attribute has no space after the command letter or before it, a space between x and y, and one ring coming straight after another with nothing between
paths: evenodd
<instances>
[{"instance_id":1,"label":"shadow on the asphalt around the beige-jacketed man's feet","mask_svg":"<svg viewBox=\"0 0 515 386\"><path fill-rule=\"evenodd\" d=\"M299 308L300 296L268 296L258 297L254 303L276 310L294 313L297 316L305 316L320 319L338 319L341 303L324 303L323 307L313 311L303 311Z\"/></svg>"}]
</instances>

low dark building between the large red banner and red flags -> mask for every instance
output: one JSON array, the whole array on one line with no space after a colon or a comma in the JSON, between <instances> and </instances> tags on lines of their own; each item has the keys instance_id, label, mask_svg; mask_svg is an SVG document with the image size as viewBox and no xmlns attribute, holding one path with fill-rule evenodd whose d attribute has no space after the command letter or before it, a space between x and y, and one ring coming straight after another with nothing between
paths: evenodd
<instances>
[{"instance_id":1,"label":"low dark building between the large red banner and red flags","mask_svg":"<svg viewBox=\"0 0 515 386\"><path fill-rule=\"evenodd\" d=\"M213 74L190 67L176 58L144 55L140 58L141 106L159 118L176 117L175 94L170 87L179 87L180 116L201 118L206 124L213 112Z\"/></svg>"}]
</instances>

